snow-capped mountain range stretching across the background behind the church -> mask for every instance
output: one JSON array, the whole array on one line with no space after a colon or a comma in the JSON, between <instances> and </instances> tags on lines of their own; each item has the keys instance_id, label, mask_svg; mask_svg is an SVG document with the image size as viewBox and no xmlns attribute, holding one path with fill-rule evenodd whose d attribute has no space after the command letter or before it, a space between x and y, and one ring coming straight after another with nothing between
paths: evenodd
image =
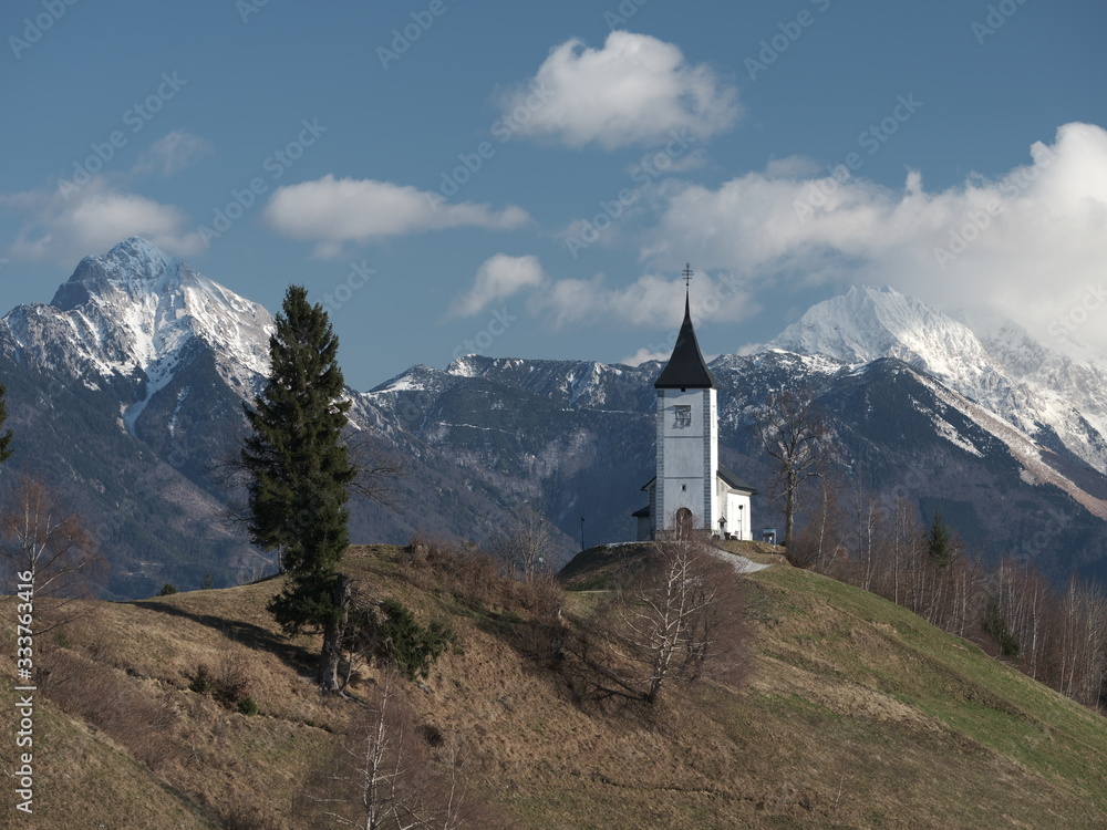
<instances>
[{"instance_id":1,"label":"snow-capped mountain range stretching across the background behind the church","mask_svg":"<svg viewBox=\"0 0 1107 830\"><path fill-rule=\"evenodd\" d=\"M206 572L217 584L258 575L263 561L226 521L210 465L244 429L272 326L257 303L136 238L82 260L51 303L0 320L0 380L21 447L4 470L33 471L97 517L111 595L194 587ZM858 492L906 491L923 515L940 507L992 556L1107 573L1107 364L889 289L821 303L770 346L711 364L721 460L754 486L767 491L772 475L754 408L807 386ZM354 443L405 467L393 509L351 502L352 537L479 541L527 501L566 547L582 527L589 544L625 540L653 475L660 371L469 355L348 391ZM768 499L756 510L775 522ZM1045 541L1030 543L1043 528Z\"/></svg>"}]
</instances>

